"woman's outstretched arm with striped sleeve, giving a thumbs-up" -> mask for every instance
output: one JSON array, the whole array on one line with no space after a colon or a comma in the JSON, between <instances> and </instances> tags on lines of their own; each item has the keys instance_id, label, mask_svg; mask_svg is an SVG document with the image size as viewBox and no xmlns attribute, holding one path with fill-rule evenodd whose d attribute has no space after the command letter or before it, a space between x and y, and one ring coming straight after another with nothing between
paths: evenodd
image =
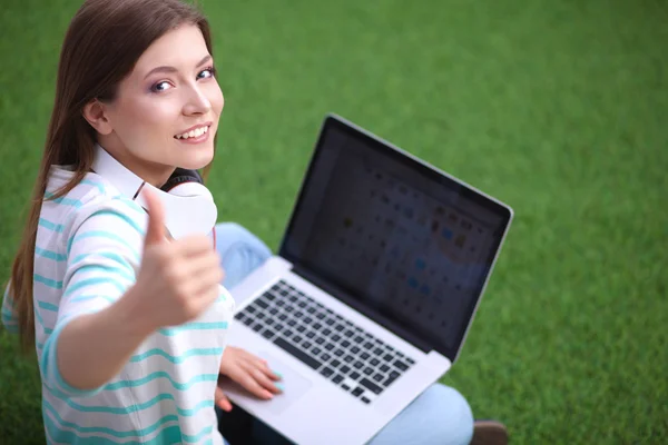
<instances>
[{"instance_id":1,"label":"woman's outstretched arm with striped sleeve, giving a thumbs-up","mask_svg":"<svg viewBox=\"0 0 668 445\"><path fill-rule=\"evenodd\" d=\"M41 364L55 389L71 395L101 389L153 332L197 317L218 297L223 270L210 240L167 241L159 201L147 200L145 237L145 221L130 219L127 209L106 208L68 243L72 259ZM131 264L139 258L135 279Z\"/></svg>"}]
</instances>

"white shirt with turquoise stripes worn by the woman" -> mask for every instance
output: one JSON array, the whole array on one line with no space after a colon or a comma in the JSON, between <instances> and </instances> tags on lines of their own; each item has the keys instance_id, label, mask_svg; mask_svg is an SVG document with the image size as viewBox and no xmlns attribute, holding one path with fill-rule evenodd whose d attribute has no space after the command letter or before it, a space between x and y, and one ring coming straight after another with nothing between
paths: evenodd
<instances>
[{"instance_id":1,"label":"white shirt with turquoise stripes worn by the woman","mask_svg":"<svg viewBox=\"0 0 668 445\"><path fill-rule=\"evenodd\" d=\"M52 167L47 197L72 176ZM206 313L151 334L110 382L80 390L60 376L59 333L75 317L120 298L139 270L148 218L96 174L69 194L45 200L35 248L36 349L42 416L50 444L222 444L214 394L234 300L220 296ZM2 322L17 330L11 285Z\"/></svg>"}]
</instances>

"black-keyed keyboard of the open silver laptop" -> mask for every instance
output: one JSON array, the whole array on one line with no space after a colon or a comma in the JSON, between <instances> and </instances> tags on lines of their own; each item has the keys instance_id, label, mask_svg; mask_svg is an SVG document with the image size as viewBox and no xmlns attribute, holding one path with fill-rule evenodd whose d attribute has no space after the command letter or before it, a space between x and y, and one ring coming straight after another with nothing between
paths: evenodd
<instances>
[{"instance_id":1,"label":"black-keyed keyboard of the open silver laptop","mask_svg":"<svg viewBox=\"0 0 668 445\"><path fill-rule=\"evenodd\" d=\"M415 364L283 280L234 318L365 404Z\"/></svg>"}]
</instances>

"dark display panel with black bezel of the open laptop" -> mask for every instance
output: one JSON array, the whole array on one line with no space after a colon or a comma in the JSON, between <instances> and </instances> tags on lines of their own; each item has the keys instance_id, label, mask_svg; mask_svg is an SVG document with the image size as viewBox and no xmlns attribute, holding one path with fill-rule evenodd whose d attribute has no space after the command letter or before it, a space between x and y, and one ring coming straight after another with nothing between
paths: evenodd
<instances>
[{"instance_id":1,"label":"dark display panel with black bezel of the open laptop","mask_svg":"<svg viewBox=\"0 0 668 445\"><path fill-rule=\"evenodd\" d=\"M508 207L330 117L281 255L454 360L510 219Z\"/></svg>"}]
</instances>

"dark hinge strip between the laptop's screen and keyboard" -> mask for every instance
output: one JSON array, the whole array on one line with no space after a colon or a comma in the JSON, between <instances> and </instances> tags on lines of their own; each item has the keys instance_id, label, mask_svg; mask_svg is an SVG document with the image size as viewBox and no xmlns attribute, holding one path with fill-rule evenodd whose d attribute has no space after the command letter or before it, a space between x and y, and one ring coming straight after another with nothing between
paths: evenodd
<instances>
[{"instance_id":1,"label":"dark hinge strip between the laptop's screen and keyboard","mask_svg":"<svg viewBox=\"0 0 668 445\"><path fill-rule=\"evenodd\" d=\"M315 286L320 287L334 298L337 298L342 303L363 314L364 316L377 323L379 325L383 326L385 329L392 332L397 337L403 338L405 342L422 350L424 354L428 354L429 352L434 349L434 347L430 346L428 342L420 338L416 334L411 333L401 323L390 319L375 308L369 307L367 305L363 304L362 301L360 301L360 299L355 298L352 294L343 290L341 287L335 286L327 280L318 278L315 274L310 273L306 268L299 267L299 265L294 265L292 271L306 279L307 281L313 283Z\"/></svg>"}]
</instances>

